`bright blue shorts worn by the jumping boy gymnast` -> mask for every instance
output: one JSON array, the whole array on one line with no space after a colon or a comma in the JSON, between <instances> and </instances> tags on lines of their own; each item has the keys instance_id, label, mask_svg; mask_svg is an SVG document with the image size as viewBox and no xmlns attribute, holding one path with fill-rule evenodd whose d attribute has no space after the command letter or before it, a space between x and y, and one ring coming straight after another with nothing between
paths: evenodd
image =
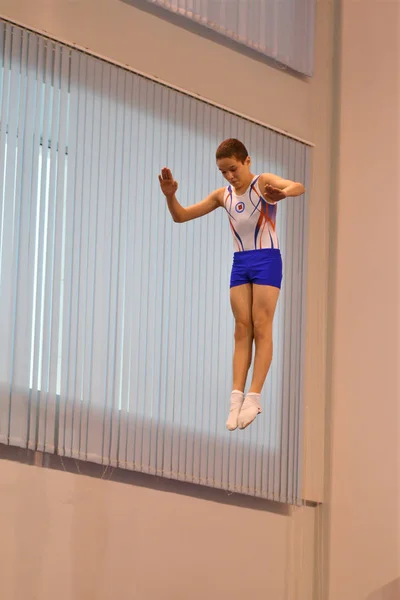
<instances>
[{"instance_id":1,"label":"bright blue shorts worn by the jumping boy gymnast","mask_svg":"<svg viewBox=\"0 0 400 600\"><path fill-rule=\"evenodd\" d=\"M282 284L282 256L279 248L261 248L235 252L231 273L231 287L244 283L271 285Z\"/></svg>"}]
</instances>

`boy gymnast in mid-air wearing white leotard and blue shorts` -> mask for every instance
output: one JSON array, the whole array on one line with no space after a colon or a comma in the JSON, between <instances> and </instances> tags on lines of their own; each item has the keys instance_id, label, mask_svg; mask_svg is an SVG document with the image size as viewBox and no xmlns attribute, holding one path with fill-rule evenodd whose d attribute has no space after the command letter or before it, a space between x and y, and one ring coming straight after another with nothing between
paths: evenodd
<instances>
[{"instance_id":1,"label":"boy gymnast in mid-air wearing white leotard and blue shorts","mask_svg":"<svg viewBox=\"0 0 400 600\"><path fill-rule=\"evenodd\" d=\"M235 319L233 385L227 428L245 429L261 412L260 394L272 360L272 321L282 282L282 258L276 235L277 203L300 196L301 183L278 175L253 175L247 149L236 139L217 148L216 161L228 186L219 188L192 206L176 199L178 183L169 169L158 176L169 211L176 223L184 223L224 208L233 235L234 256L230 301ZM253 378L244 395L247 374L255 357Z\"/></svg>"}]
</instances>

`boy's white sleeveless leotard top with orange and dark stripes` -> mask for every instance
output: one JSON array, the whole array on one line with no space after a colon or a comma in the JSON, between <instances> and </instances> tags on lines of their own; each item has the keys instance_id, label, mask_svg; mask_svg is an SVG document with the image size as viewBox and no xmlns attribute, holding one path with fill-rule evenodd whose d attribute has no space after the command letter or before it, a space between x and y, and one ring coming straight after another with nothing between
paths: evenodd
<instances>
[{"instance_id":1,"label":"boy's white sleeveless leotard top with orange and dark stripes","mask_svg":"<svg viewBox=\"0 0 400 600\"><path fill-rule=\"evenodd\" d=\"M228 213L236 252L263 248L279 248L276 227L276 203L270 204L260 193L259 175L246 192L237 195L228 185L224 192L224 207Z\"/></svg>"}]
</instances>

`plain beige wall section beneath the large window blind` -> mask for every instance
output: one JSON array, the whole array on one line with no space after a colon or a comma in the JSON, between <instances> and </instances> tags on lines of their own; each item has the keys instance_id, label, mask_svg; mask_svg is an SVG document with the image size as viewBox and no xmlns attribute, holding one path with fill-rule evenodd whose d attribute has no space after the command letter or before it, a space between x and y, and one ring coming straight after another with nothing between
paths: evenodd
<instances>
[{"instance_id":1,"label":"plain beige wall section beneath the large window blind","mask_svg":"<svg viewBox=\"0 0 400 600\"><path fill-rule=\"evenodd\" d=\"M298 597L292 548L301 535L310 552L311 509L289 518L6 460L0 466L4 600Z\"/></svg>"}]
</instances>

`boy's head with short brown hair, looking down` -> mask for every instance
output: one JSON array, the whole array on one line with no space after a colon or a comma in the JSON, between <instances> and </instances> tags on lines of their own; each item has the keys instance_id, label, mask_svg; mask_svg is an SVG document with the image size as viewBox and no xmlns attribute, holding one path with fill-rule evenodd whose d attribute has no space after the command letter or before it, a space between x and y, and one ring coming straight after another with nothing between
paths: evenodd
<instances>
[{"instance_id":1,"label":"boy's head with short brown hair, looking down","mask_svg":"<svg viewBox=\"0 0 400 600\"><path fill-rule=\"evenodd\" d=\"M234 138L224 140L217 148L217 166L235 188L247 184L250 177L250 156L246 146Z\"/></svg>"}]
</instances>

